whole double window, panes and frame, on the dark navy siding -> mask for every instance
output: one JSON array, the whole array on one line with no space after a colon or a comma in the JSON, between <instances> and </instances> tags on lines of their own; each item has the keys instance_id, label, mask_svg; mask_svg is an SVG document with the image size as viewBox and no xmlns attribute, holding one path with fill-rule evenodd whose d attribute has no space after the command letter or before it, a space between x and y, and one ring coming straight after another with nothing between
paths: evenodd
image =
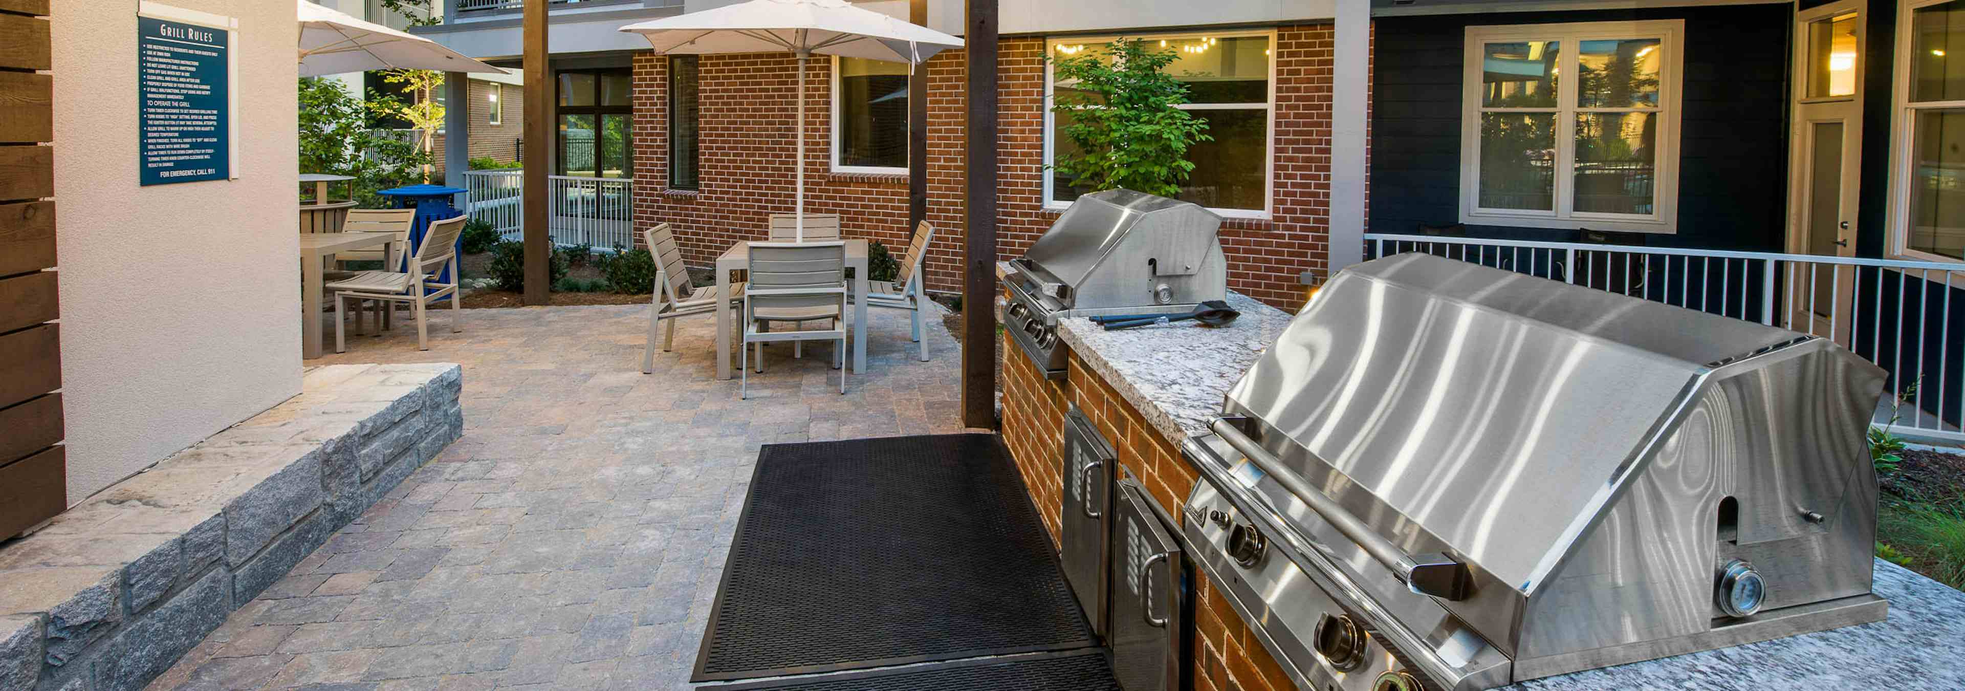
<instances>
[{"instance_id":1,"label":"whole double window, panes and frame, on the dark navy siding","mask_svg":"<svg viewBox=\"0 0 1965 691\"><path fill-rule=\"evenodd\" d=\"M1460 222L1678 230L1684 22L1470 26Z\"/></svg>"}]
</instances>

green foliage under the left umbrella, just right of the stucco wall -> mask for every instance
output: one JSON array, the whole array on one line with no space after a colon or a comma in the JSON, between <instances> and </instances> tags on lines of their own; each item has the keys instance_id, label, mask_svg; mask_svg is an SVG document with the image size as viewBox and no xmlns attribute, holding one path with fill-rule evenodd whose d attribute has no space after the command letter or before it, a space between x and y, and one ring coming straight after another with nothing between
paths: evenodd
<instances>
[{"instance_id":1,"label":"green foliage under the left umbrella, just right of the stucco wall","mask_svg":"<svg viewBox=\"0 0 1965 691\"><path fill-rule=\"evenodd\" d=\"M375 190L403 186L430 157L409 141L381 133L377 120L395 96L369 94L364 102L342 82L307 77L299 82L301 171L354 177L354 198L381 206Z\"/></svg>"}]
</instances>

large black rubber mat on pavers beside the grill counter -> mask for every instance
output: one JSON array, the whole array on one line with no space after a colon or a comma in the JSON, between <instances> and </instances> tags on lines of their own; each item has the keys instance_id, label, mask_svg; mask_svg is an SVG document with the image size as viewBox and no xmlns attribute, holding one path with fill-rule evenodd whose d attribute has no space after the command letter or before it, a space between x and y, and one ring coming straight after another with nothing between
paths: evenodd
<instances>
[{"instance_id":1,"label":"large black rubber mat on pavers beside the grill counter","mask_svg":"<svg viewBox=\"0 0 1965 691\"><path fill-rule=\"evenodd\" d=\"M1089 646L996 436L772 444L692 681Z\"/></svg>"}]
</instances>

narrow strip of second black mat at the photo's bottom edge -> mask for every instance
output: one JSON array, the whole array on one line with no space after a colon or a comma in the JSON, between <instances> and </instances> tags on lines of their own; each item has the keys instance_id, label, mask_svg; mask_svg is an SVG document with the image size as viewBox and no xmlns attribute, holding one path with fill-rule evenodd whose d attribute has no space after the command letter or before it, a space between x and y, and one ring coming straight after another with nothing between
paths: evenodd
<instances>
[{"instance_id":1,"label":"narrow strip of second black mat at the photo's bottom edge","mask_svg":"<svg viewBox=\"0 0 1965 691\"><path fill-rule=\"evenodd\" d=\"M731 689L776 691L1120 691L1104 654L1071 652L1018 660L963 660L927 667L847 671L817 681L776 681Z\"/></svg>"}]
</instances>

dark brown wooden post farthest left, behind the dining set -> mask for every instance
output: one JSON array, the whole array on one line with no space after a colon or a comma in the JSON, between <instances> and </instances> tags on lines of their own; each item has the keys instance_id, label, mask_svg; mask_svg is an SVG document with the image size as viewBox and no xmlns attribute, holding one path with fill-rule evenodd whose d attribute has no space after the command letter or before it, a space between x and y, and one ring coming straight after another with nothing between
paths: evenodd
<instances>
[{"instance_id":1,"label":"dark brown wooden post farthest left, behind the dining set","mask_svg":"<svg viewBox=\"0 0 1965 691\"><path fill-rule=\"evenodd\" d=\"M552 67L546 51L546 0L525 0L525 304L552 304L552 238L546 185L552 171Z\"/></svg>"}]
</instances>

